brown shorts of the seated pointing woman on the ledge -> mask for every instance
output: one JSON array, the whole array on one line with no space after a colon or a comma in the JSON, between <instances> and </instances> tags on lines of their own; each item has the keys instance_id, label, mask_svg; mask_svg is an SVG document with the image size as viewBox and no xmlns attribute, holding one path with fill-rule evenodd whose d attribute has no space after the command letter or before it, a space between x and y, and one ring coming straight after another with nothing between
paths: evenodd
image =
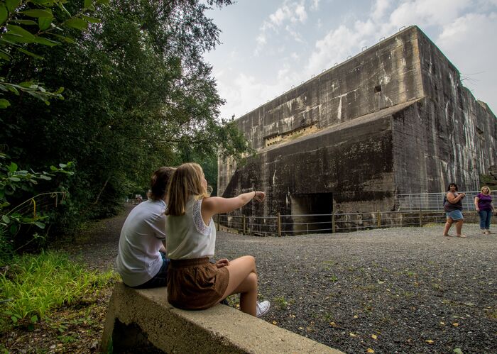
<instances>
[{"instance_id":1,"label":"brown shorts of the seated pointing woman on the ledge","mask_svg":"<svg viewBox=\"0 0 497 354\"><path fill-rule=\"evenodd\" d=\"M178 309L204 310L223 299L228 268L218 268L208 257L171 260L168 267L168 301Z\"/></svg>"}]
</instances>

